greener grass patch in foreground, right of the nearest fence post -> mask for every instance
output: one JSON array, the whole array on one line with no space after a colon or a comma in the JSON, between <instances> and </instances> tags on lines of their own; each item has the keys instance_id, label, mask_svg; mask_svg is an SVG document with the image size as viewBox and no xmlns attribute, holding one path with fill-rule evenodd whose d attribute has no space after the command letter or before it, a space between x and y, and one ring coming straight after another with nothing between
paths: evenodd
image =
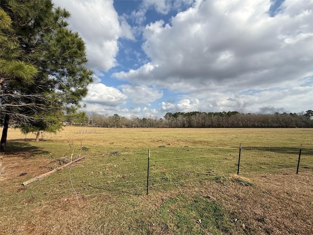
<instances>
[{"instance_id":1,"label":"greener grass patch in foreground, right of the nearest fence post","mask_svg":"<svg viewBox=\"0 0 313 235\"><path fill-rule=\"evenodd\" d=\"M231 234L235 226L219 202L197 195L169 198L161 205L159 215L163 227L175 234Z\"/></svg>"}]
</instances>

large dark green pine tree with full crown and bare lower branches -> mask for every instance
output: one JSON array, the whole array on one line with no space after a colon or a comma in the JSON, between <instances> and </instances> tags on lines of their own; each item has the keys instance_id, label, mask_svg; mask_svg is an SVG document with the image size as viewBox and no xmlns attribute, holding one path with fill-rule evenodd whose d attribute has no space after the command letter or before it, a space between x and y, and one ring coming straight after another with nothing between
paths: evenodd
<instances>
[{"instance_id":1,"label":"large dark green pine tree with full crown and bare lower branches","mask_svg":"<svg viewBox=\"0 0 313 235\"><path fill-rule=\"evenodd\" d=\"M55 132L62 128L65 109L77 110L92 82L92 71L85 68L85 43L68 28L69 12L54 8L51 0L1 0L0 9L10 17L17 39L4 39L6 44L18 45L20 52L14 60L36 68L34 76L23 79L0 71L4 124L11 117L24 133ZM14 106L10 106L10 98L14 98Z\"/></svg>"}]
</instances>

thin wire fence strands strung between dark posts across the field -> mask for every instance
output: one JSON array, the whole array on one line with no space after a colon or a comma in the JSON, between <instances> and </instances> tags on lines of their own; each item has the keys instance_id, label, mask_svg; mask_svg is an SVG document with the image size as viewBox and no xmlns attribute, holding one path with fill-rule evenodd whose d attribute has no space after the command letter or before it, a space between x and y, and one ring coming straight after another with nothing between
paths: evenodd
<instances>
[{"instance_id":1,"label":"thin wire fence strands strung between dark posts across the field","mask_svg":"<svg viewBox=\"0 0 313 235\"><path fill-rule=\"evenodd\" d=\"M216 149L224 151L217 153L215 152ZM45 202L53 203L60 200L60 195L62 197L76 195L77 198L121 192L133 192L142 195L147 188L154 191L168 190L168 187L184 182L215 179L236 173L238 147L237 149L213 148L213 152L212 154L211 148L154 149L151 153L150 162L152 164L149 167L150 177L148 179L147 151L128 151L127 154L122 154L124 161L118 158L121 156L107 156L108 159L103 158L102 160L110 161L110 163L99 164L97 162L93 164L92 161L89 161L83 166L74 164L69 169L70 178L65 178L68 177L68 172L65 169L60 171L60 177L63 178L59 181L53 177L53 181L42 180L27 186L31 190L28 197L40 198L44 194L46 199L50 196L54 198ZM199 155L200 153L201 155ZM271 155L264 158L265 153ZM251 148L243 148L241 154L240 174L258 174L297 168L298 151L273 152L260 151L259 149L252 151ZM299 168L313 169L313 150L304 149L302 154L303 158ZM144 158L146 159L144 160ZM132 159L133 161L131 161ZM83 174L81 171L84 171ZM149 185L146 185L146 182L149 182ZM21 186L6 188L19 189ZM5 194L2 194L3 197ZM20 198L22 201L24 196L21 193L13 195L13 197ZM43 202L25 203L25 205L37 203L42 204Z\"/></svg>"}]
</instances>

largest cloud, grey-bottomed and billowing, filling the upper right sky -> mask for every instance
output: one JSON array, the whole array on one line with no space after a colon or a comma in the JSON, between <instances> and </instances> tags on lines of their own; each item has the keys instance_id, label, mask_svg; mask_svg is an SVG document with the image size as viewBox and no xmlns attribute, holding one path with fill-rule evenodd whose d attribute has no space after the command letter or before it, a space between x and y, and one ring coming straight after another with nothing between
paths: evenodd
<instances>
[{"instance_id":1,"label":"largest cloud, grey-bottomed and billowing, filling the upper right sky","mask_svg":"<svg viewBox=\"0 0 313 235\"><path fill-rule=\"evenodd\" d=\"M270 4L197 1L171 24L147 24L142 48L151 62L114 76L199 93L267 89L312 75L313 2L287 0L275 17Z\"/></svg>"}]
</instances>

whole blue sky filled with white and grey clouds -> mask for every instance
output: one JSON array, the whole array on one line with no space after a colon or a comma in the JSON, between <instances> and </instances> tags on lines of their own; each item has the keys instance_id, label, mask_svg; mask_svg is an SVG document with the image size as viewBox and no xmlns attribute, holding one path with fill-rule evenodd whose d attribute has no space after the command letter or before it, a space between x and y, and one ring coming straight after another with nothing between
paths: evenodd
<instances>
[{"instance_id":1,"label":"whole blue sky filled with white and grey clouds","mask_svg":"<svg viewBox=\"0 0 313 235\"><path fill-rule=\"evenodd\" d=\"M86 43L83 111L313 110L313 0L53 0Z\"/></svg>"}]
</instances>

